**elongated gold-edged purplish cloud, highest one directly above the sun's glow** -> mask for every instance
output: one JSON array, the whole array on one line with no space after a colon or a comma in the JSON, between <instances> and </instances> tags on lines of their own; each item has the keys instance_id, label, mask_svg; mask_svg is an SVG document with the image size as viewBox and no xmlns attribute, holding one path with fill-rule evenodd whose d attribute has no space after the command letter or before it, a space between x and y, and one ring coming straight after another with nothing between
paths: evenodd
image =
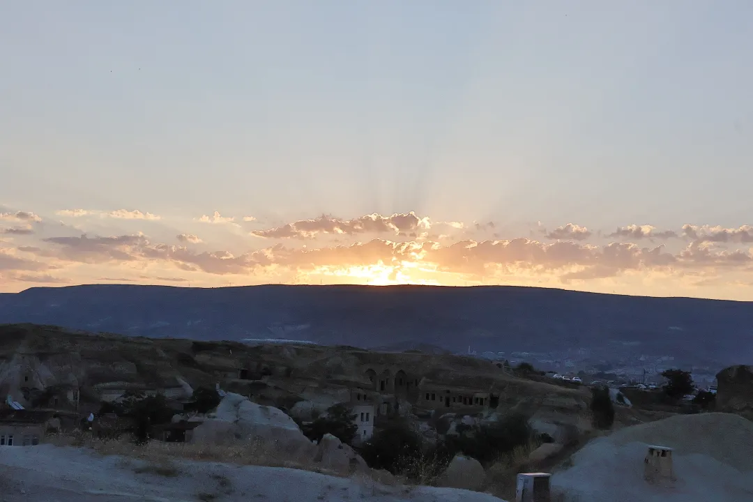
<instances>
[{"instance_id":1,"label":"elongated gold-edged purplish cloud, highest one directly above the sun's glow","mask_svg":"<svg viewBox=\"0 0 753 502\"><path fill-rule=\"evenodd\" d=\"M268 230L255 230L252 235L267 239L313 239L320 233L354 236L362 233L392 233L398 236L417 236L417 232L431 228L428 218L419 218L413 211L382 216L367 214L351 220L322 214L312 220L300 220Z\"/></svg>"}]
</instances>

